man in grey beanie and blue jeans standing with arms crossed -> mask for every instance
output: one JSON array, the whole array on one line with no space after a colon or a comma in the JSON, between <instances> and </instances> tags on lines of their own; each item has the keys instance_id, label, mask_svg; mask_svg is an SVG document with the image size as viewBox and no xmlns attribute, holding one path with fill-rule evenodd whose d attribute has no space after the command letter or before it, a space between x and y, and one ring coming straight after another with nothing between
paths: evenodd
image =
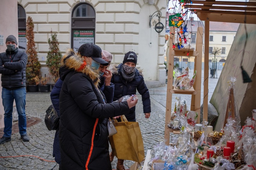
<instances>
[{"instance_id":1,"label":"man in grey beanie and blue jeans standing with arms crossed","mask_svg":"<svg viewBox=\"0 0 256 170\"><path fill-rule=\"evenodd\" d=\"M29 141L26 128L26 64L28 56L25 51L17 48L17 39L13 35L6 38L7 49L0 53L0 74L2 81L2 101L5 110L4 135L0 139L0 144L11 140L12 132L12 112L15 100L18 112L18 122L20 138L24 142Z\"/></svg>"}]
</instances>

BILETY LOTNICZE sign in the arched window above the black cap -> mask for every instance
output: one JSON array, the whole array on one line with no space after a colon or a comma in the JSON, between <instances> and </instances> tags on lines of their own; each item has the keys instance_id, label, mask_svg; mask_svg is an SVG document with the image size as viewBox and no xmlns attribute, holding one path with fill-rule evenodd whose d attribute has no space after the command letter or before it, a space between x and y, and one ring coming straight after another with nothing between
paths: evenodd
<instances>
[{"instance_id":1,"label":"BILETY LOTNICZE sign in the arched window above the black cap","mask_svg":"<svg viewBox=\"0 0 256 170\"><path fill-rule=\"evenodd\" d=\"M94 30L74 30L73 47L77 52L78 48L85 43L94 43Z\"/></svg>"}]
</instances>

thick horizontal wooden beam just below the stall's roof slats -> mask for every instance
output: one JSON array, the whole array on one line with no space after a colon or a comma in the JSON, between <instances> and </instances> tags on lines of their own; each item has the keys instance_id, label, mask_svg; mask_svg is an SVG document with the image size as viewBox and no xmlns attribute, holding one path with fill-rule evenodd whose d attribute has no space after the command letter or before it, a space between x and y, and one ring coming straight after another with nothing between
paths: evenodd
<instances>
[{"instance_id":1,"label":"thick horizontal wooden beam just below the stall's roof slats","mask_svg":"<svg viewBox=\"0 0 256 170\"><path fill-rule=\"evenodd\" d=\"M225 12L198 11L197 16L201 21L244 23L245 15ZM256 24L256 15L246 15L246 24Z\"/></svg>"}]
</instances>

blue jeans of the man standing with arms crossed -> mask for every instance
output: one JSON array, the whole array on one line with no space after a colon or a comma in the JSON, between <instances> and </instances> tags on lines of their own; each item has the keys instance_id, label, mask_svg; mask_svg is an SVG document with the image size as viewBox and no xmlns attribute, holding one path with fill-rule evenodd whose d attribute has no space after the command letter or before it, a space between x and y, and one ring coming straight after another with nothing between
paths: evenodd
<instances>
[{"instance_id":1,"label":"blue jeans of the man standing with arms crossed","mask_svg":"<svg viewBox=\"0 0 256 170\"><path fill-rule=\"evenodd\" d=\"M19 122L19 130L20 136L25 135L26 128L27 128L27 120L26 120L26 113L25 113L25 105L26 105L26 87L15 89L15 90L8 90L3 87L2 89L2 100L3 106L5 110L5 128L4 128L4 135L5 137L11 137L11 130L12 130L12 112L13 112L13 102L15 100L16 108L18 112L18 122Z\"/></svg>"}]
</instances>

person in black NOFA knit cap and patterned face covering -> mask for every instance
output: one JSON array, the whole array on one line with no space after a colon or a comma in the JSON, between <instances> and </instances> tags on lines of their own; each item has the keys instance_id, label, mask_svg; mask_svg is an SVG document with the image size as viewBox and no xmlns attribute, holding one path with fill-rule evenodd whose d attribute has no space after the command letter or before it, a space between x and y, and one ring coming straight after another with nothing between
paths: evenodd
<instances>
[{"instance_id":1,"label":"person in black NOFA knit cap and patterned face covering","mask_svg":"<svg viewBox=\"0 0 256 170\"><path fill-rule=\"evenodd\" d=\"M144 82L142 70L136 69L137 55L133 51L129 51L124 55L123 63L118 66L111 67L113 74L111 82L115 85L114 88L114 101L118 100L125 95L134 95L136 90L142 96L143 112L145 118L150 117L151 106L148 88ZM125 114L129 122L136 122L135 107L130 108L130 113ZM112 152L110 153L110 160L114 159ZM123 161L118 159L117 170L125 170Z\"/></svg>"}]
</instances>

